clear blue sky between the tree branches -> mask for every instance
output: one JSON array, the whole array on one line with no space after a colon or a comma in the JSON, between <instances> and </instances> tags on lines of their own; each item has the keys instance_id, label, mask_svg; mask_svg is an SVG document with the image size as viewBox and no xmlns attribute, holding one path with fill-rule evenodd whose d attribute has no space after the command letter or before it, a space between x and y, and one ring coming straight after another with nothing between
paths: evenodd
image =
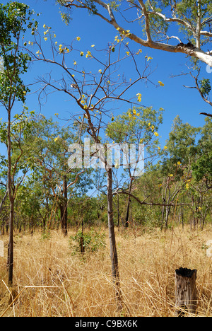
<instances>
[{"instance_id":1,"label":"clear blue sky between the tree branches","mask_svg":"<svg viewBox=\"0 0 212 331\"><path fill-rule=\"evenodd\" d=\"M7 1L2 1L6 4ZM40 23L40 30L43 24L47 24L52 27L52 30L57 34L57 40L60 43L69 43L73 38L80 36L80 47L84 52L90 50L90 45L95 44L98 49L105 48L108 41L113 41L114 36L117 35L117 31L114 30L112 26L102 21L100 18L95 16L89 16L86 10L74 10L72 13L72 21L69 26L66 26L62 21L59 14L59 6L54 4L54 0L25 0L21 1L28 4L37 13L42 13L42 15L37 18ZM130 27L133 32L133 25ZM137 29L137 28L136 28ZM136 30L138 33L138 29ZM131 48L133 50L138 50L142 48L143 52L140 57L141 66L143 66L143 59L148 55L148 57L153 57L151 61L152 68L155 69L151 80L154 83L158 81L163 81L164 87L158 87L148 83L140 83L139 90L138 86L131 90L131 95L136 95L140 92L142 94L142 105L153 106L153 108L164 108L164 120L158 133L162 137L162 145L165 144L165 139L167 139L170 132L172 122L174 118L179 115L183 122L189 122L193 126L203 126L204 116L199 115L199 112L211 112L210 106L206 105L199 93L194 89L184 88L184 85L191 86L194 82L189 79L189 76L180 76L176 78L170 78L171 74L180 74L185 69L185 62L188 59L185 58L184 54L171 54L168 52L163 52L159 50L151 50L146 47L141 47L134 42L130 42ZM46 44L45 47L49 47ZM86 57L83 58L86 61ZM140 64L139 64L140 65ZM46 72L49 72L49 67L47 66L30 66L30 71L26 74L26 81L35 81L37 76L41 76ZM130 68L126 68L126 75L130 74ZM210 74L204 71L204 78L210 78ZM39 103L37 101L37 95L30 95L27 98L26 104L29 106L29 110L40 111ZM54 113L59 113L60 117L69 118L69 112L77 112L73 109L73 103L68 100L66 95L63 93L57 94L57 96L49 96L47 103L42 107L41 112L47 117L54 117ZM129 107L126 105L126 110ZM122 108L123 110L123 108ZM4 110L0 110L2 115L4 115ZM114 115L117 115L114 112ZM1 115L1 117L2 117ZM55 118L56 119L56 118Z\"/></svg>"}]
</instances>

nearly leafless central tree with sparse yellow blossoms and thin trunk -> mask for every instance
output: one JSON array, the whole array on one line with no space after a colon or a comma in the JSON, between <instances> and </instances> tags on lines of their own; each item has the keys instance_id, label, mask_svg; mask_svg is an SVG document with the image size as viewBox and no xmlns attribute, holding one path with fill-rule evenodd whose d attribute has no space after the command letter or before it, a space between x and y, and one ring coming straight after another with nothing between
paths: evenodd
<instances>
[{"instance_id":1,"label":"nearly leafless central tree with sparse yellow blossoms and thin trunk","mask_svg":"<svg viewBox=\"0 0 212 331\"><path fill-rule=\"evenodd\" d=\"M149 81L149 62L143 59L143 69L139 70L139 66L136 65L136 58L141 56L141 52L131 52L129 50L129 45L126 41L127 31L126 34L122 33L122 37L115 37L114 41L109 42L105 50L98 52L95 45L91 45L90 50L85 52L85 50L79 49L81 47L80 36L77 36L71 43L64 44L57 40L57 34L54 33L51 27L45 24L43 28L43 35L38 33L38 31L34 34L33 45L36 47L36 49L34 48L35 52L30 49L30 46L28 46L27 50L30 52L33 61L44 62L52 66L52 68L59 69L61 76L60 79L54 79L52 71L51 75L40 77L38 79L41 83L40 95L44 95L46 98L48 93L52 93L52 91L63 92L76 105L76 113L72 112L70 120L78 124L78 141L76 148L72 146L73 148L69 149L69 152L74 154L74 149L77 149L79 158L76 157L76 163L71 164L70 169L66 173L69 173L73 168L79 168L78 173L76 173L76 179L72 183L76 182L86 169L98 166L97 162L91 164L90 159L92 157L99 161L99 166L102 165L102 168L107 173L107 219L110 236L112 279L118 306L122 308L117 246L114 234L112 166L107 162L105 153L102 153L105 149L105 146L102 146L102 137L104 137L108 120L114 120L114 108L118 107L118 103L126 103L128 105L141 104L141 93L138 91L137 95L131 97L129 91L133 86L140 90L141 86L139 86L139 83L141 81ZM50 42L52 57L45 55L43 42L47 45L48 41ZM29 40L26 44L30 45L31 42L32 40ZM81 65L82 59L84 59L83 66ZM124 74L121 75L120 68L124 67L125 62L131 65L131 73L133 74L134 72L136 75L134 80L131 77L126 78ZM81 145L82 139L85 138L85 133L93 141L95 145L94 151L91 151L92 146L89 143L89 151L85 149L86 142L84 146Z\"/></svg>"}]
</instances>

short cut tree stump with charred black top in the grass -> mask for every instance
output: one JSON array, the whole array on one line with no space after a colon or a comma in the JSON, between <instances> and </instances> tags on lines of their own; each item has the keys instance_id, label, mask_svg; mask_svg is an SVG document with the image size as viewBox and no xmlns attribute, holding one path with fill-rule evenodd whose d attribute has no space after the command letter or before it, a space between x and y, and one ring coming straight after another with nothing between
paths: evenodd
<instances>
[{"instance_id":1,"label":"short cut tree stump with charred black top in the grass","mask_svg":"<svg viewBox=\"0 0 212 331\"><path fill-rule=\"evenodd\" d=\"M180 267L175 270L175 315L184 316L185 313L196 313L196 269Z\"/></svg>"}]
</instances>

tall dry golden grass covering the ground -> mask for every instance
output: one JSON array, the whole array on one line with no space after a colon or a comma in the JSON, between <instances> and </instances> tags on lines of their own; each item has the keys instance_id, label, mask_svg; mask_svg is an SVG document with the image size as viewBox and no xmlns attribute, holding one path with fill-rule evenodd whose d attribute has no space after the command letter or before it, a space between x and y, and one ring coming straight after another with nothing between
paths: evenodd
<instances>
[{"instance_id":1,"label":"tall dry golden grass covering the ground","mask_svg":"<svg viewBox=\"0 0 212 331\"><path fill-rule=\"evenodd\" d=\"M212 316L212 260L204 244L211 227L191 233L181 228L161 233L117 232L124 311L131 316L174 316L175 269L197 269L199 316ZM107 229L105 229L107 233ZM69 236L73 234L69 232ZM138 233L137 233L138 234ZM117 316L110 276L110 248L85 257L71 255L69 236L52 231L15 236L14 288L10 303L6 257L0 257L0 315ZM3 238L7 243L6 236ZM6 254L5 254L6 255Z\"/></svg>"}]
</instances>

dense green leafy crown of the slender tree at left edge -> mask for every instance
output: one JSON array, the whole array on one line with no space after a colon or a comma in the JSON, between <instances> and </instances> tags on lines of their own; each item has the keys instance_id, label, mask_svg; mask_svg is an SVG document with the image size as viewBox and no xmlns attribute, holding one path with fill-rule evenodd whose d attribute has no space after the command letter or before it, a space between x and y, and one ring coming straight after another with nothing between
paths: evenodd
<instances>
[{"instance_id":1,"label":"dense green leafy crown of the slender tree at left edge","mask_svg":"<svg viewBox=\"0 0 212 331\"><path fill-rule=\"evenodd\" d=\"M25 87L21 76L28 69L31 58L20 51L20 37L28 27L37 26L30 21L34 11L19 2L0 4L0 57L2 66L0 73L0 100L7 108L15 100L25 102L25 95L30 91Z\"/></svg>"}]
</instances>

